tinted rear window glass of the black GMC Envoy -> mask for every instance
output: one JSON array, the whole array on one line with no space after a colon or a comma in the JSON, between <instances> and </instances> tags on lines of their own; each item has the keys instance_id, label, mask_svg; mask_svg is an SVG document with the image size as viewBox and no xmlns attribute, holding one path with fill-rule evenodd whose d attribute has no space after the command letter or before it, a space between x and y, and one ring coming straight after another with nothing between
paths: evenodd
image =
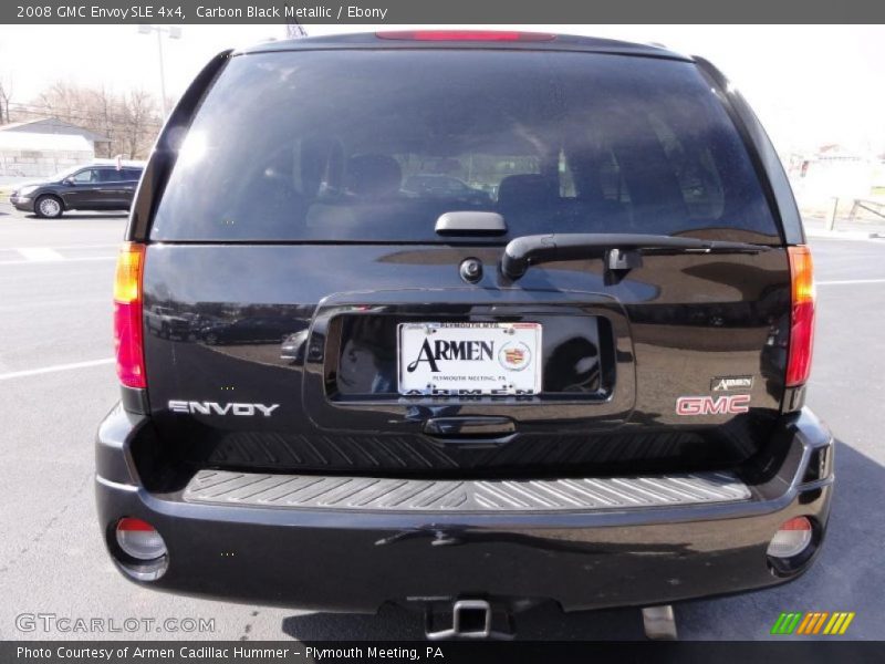
<instances>
[{"instance_id":1,"label":"tinted rear window glass of the black GMC Envoy","mask_svg":"<svg viewBox=\"0 0 885 664\"><path fill-rule=\"evenodd\" d=\"M747 151L691 63L531 51L233 58L206 95L155 240L446 241L643 232L777 241ZM504 239L507 239L504 238Z\"/></svg>"}]
</instances>

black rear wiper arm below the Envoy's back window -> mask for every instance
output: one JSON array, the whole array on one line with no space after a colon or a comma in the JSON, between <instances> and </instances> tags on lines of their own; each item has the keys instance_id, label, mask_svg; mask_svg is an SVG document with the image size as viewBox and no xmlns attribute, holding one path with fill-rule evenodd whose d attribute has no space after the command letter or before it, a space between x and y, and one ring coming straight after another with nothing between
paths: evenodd
<instances>
[{"instance_id":1,"label":"black rear wiper arm below the Envoy's back window","mask_svg":"<svg viewBox=\"0 0 885 664\"><path fill-rule=\"evenodd\" d=\"M698 253L760 253L771 249L768 245L729 242L725 240L700 240L663 235L564 232L522 236L504 247L501 257L501 273L516 281L529 269L558 260L594 258L607 253L606 268L628 270L639 264L643 250Z\"/></svg>"}]
</instances>

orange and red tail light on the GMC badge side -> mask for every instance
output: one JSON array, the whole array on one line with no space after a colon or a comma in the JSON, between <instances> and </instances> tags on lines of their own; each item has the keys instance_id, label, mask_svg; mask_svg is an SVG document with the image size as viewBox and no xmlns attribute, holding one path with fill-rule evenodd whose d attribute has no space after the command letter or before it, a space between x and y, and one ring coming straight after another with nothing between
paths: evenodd
<instances>
[{"instance_id":1,"label":"orange and red tail light on the GMC badge side","mask_svg":"<svg viewBox=\"0 0 885 664\"><path fill-rule=\"evenodd\" d=\"M790 349L787 356L787 386L796 387L809 380L814 342L814 270L811 249L789 247L792 280Z\"/></svg>"}]
</instances>

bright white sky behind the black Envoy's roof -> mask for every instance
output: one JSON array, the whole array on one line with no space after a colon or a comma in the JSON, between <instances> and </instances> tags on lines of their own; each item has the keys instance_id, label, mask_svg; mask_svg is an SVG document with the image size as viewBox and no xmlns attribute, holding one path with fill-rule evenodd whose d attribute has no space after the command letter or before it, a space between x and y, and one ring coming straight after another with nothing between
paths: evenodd
<instances>
[{"instance_id":1,"label":"bright white sky behind the black Envoy's roof","mask_svg":"<svg viewBox=\"0 0 885 664\"><path fill-rule=\"evenodd\" d=\"M306 30L314 35L402 28L308 25ZM885 27L521 28L659 42L704 55L741 89L781 152L825 143L885 152ZM284 32L282 24L184 25L180 40L164 38L168 94L180 94L218 51L282 39ZM138 34L135 25L0 25L0 77L11 79L13 103L30 101L56 80L118 91L145 87L159 94L156 37Z\"/></svg>"}]
</instances>

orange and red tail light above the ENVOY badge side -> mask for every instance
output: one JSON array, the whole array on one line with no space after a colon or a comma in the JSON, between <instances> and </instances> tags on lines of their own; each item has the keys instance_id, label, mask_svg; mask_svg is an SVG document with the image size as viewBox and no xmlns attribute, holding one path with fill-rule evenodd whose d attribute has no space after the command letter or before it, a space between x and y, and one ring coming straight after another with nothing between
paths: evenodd
<instances>
[{"instance_id":1,"label":"orange and red tail light above the ENVOY badge side","mask_svg":"<svg viewBox=\"0 0 885 664\"><path fill-rule=\"evenodd\" d=\"M114 279L114 347L117 376L127 387L144 388L145 357L142 332L142 270L145 247L126 242L117 257Z\"/></svg>"}]
</instances>

